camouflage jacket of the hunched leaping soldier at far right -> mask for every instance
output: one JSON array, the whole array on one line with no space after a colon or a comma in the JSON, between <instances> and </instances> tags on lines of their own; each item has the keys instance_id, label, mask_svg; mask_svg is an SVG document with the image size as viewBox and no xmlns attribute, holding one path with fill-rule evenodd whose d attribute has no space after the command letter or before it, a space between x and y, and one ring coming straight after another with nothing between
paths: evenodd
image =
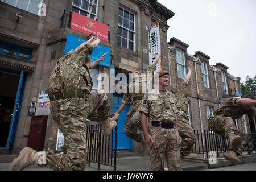
<instances>
[{"instance_id":1,"label":"camouflage jacket of the hunched leaping soldier at far right","mask_svg":"<svg viewBox=\"0 0 256 182\"><path fill-rule=\"evenodd\" d=\"M249 110L243 110L241 105L236 104L236 100L240 97L229 98L228 101L224 102L223 105L214 111L213 115L223 115L225 117L231 117L237 119L242 117L243 114L252 114L253 117L256 117L256 109L252 107Z\"/></svg>"}]
</instances>

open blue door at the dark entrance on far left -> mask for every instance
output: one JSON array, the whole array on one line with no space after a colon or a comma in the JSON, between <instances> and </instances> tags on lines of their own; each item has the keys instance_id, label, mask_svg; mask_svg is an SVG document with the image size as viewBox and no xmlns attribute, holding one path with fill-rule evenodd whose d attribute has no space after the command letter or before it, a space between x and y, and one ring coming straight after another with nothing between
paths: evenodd
<instances>
[{"instance_id":1,"label":"open blue door at the dark entrance on far left","mask_svg":"<svg viewBox=\"0 0 256 182\"><path fill-rule=\"evenodd\" d=\"M14 147L16 131L18 129L19 115L20 115L20 110L22 107L22 99L23 99L23 94L24 94L24 88L26 85L27 73L25 73L24 70L22 70L21 72L17 72L17 71L12 71L12 70L5 69L5 68L0 68L0 71L6 72L6 73L13 73L13 74L15 73L16 75L20 75L18 90L17 90L16 98L15 98L14 111L12 114L13 117L11 119L10 131L9 131L6 148L0 148L0 149L12 150Z\"/></svg>"}]
</instances>

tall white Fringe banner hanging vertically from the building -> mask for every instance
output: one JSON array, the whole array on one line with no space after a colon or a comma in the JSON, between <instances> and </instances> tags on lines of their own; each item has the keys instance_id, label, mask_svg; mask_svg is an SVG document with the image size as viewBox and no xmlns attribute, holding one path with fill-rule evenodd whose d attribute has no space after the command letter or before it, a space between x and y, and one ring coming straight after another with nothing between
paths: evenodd
<instances>
[{"instance_id":1,"label":"tall white Fringe banner hanging vertically from the building","mask_svg":"<svg viewBox=\"0 0 256 182\"><path fill-rule=\"evenodd\" d=\"M159 22L152 24L152 26L147 27L148 30L148 51L149 51L149 64L152 64L156 57L156 53L161 53L160 46L160 28ZM156 70L154 73L162 70L161 57L159 58L158 64L156 64Z\"/></svg>"}]
</instances>

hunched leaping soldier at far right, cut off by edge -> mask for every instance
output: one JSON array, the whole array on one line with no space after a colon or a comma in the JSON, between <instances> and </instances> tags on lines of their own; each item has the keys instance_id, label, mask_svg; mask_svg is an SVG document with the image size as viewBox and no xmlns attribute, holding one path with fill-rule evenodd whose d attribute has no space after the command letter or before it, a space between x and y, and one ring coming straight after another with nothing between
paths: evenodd
<instances>
[{"instance_id":1,"label":"hunched leaping soldier at far right, cut off by edge","mask_svg":"<svg viewBox=\"0 0 256 182\"><path fill-rule=\"evenodd\" d=\"M253 117L256 117L255 104L254 96L249 94L243 98L229 98L219 109L214 111L208 120L210 129L221 137L229 139L230 150L223 155L233 164L240 163L237 156L242 154L242 148L247 139L246 133L234 125L234 119L242 117L243 114L252 114Z\"/></svg>"}]
</instances>

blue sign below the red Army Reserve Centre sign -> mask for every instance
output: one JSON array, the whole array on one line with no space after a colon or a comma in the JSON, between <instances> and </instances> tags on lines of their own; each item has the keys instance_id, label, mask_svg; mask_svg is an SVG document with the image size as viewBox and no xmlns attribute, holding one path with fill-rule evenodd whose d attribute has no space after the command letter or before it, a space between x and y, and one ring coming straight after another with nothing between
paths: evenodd
<instances>
[{"instance_id":1,"label":"blue sign below the red Army Reserve Centre sign","mask_svg":"<svg viewBox=\"0 0 256 182\"><path fill-rule=\"evenodd\" d=\"M69 51L75 50L81 43L84 43L84 42L86 42L85 39L81 39L77 36L68 34L67 42L66 42L66 46L65 46L65 55L67 55ZM101 61L98 64L102 65L104 67L110 67L111 49L108 47L98 45L96 48L94 48L92 55L89 55L89 57L94 62L94 61L97 61L98 59L100 59L100 57L102 55L104 55L104 53L106 53L106 52L108 52L108 54L104 57L106 60Z\"/></svg>"}]
</instances>

